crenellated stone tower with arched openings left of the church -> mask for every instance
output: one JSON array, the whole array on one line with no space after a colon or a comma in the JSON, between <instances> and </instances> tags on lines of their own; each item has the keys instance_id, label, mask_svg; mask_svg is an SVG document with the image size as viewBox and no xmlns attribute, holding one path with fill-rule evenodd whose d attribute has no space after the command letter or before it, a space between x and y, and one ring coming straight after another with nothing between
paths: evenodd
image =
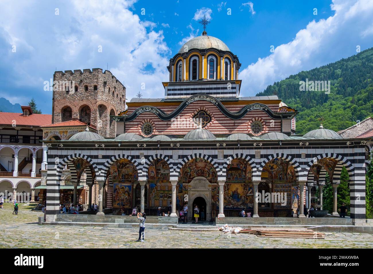
<instances>
[{"instance_id":1,"label":"crenellated stone tower with arched openings left of the church","mask_svg":"<svg viewBox=\"0 0 373 274\"><path fill-rule=\"evenodd\" d=\"M109 71L78 69L53 75L52 123L79 120L103 137L116 136L110 115L125 110L126 88Z\"/></svg>"}]
</instances>

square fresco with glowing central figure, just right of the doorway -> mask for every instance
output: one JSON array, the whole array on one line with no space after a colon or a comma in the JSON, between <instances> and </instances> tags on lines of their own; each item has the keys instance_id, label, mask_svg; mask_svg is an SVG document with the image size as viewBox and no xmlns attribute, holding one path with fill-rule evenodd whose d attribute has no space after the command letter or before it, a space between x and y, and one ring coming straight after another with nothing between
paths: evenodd
<instances>
[{"instance_id":1,"label":"square fresco with glowing central figure, just right of the doorway","mask_svg":"<svg viewBox=\"0 0 373 274\"><path fill-rule=\"evenodd\" d=\"M226 183L224 185L224 208L253 208L253 204L253 185L242 183Z\"/></svg>"}]
</instances>

